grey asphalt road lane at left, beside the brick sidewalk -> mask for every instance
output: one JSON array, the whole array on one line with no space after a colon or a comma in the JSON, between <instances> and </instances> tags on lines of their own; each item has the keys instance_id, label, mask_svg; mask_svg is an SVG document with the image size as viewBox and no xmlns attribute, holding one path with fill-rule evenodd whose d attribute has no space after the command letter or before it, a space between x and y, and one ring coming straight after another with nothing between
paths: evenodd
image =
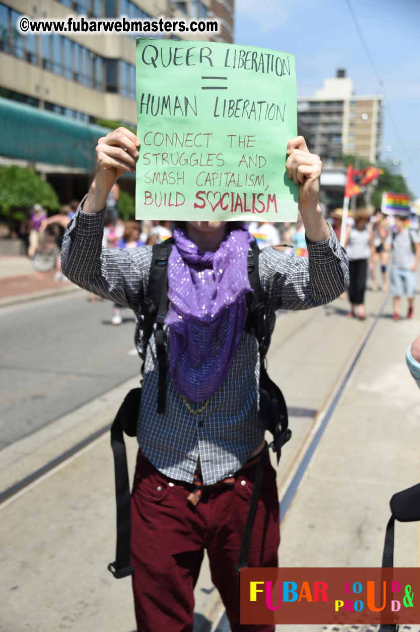
<instances>
[{"instance_id":1,"label":"grey asphalt road lane at left, beside the brick sidewalk","mask_svg":"<svg viewBox=\"0 0 420 632\"><path fill-rule=\"evenodd\" d=\"M0 448L139 375L134 314L80 291L0 308ZM109 421L112 421L110 418Z\"/></svg>"}]
</instances>

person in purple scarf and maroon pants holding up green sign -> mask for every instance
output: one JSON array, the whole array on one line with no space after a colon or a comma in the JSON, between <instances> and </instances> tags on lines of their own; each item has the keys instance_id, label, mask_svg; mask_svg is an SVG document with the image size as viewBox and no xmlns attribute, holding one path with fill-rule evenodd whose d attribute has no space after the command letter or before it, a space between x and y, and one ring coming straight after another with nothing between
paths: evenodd
<instances>
[{"instance_id":1,"label":"person in purple scarf and maroon pants holding up green sign","mask_svg":"<svg viewBox=\"0 0 420 632\"><path fill-rule=\"evenodd\" d=\"M168 259L170 308L163 325L169 360L166 405L158 413L156 331L146 349L141 332L151 248L101 246L108 193L120 175L134 173L139 143L122 127L100 138L95 177L62 248L62 268L71 281L132 308L139 322L136 345L145 368L131 514L137 626L143 632L192 630L193 590L206 549L231 630L272 632L274 625L240 625L236 570L255 459L265 446L258 416L258 345L253 334L244 332L247 255L254 238L245 222L194 221L192 208L185 222L177 222ZM287 156L278 169L299 186L308 258L271 247L260 253L267 348L275 310L324 305L348 284L346 252L318 204L322 163L303 137L289 140ZM279 539L276 474L267 456L250 566L277 566Z\"/></svg>"}]
</instances>

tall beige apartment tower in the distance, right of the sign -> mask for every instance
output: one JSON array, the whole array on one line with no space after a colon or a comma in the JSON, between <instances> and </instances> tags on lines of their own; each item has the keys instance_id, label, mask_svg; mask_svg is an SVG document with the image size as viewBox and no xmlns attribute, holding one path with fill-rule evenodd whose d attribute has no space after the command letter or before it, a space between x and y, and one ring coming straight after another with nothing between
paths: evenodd
<instances>
[{"instance_id":1,"label":"tall beige apartment tower in the distance, right of the sign","mask_svg":"<svg viewBox=\"0 0 420 632\"><path fill-rule=\"evenodd\" d=\"M310 149L336 164L342 154L376 162L383 121L382 95L356 95L344 70L324 81L313 97L298 98L298 120L308 128Z\"/></svg>"}]
</instances>

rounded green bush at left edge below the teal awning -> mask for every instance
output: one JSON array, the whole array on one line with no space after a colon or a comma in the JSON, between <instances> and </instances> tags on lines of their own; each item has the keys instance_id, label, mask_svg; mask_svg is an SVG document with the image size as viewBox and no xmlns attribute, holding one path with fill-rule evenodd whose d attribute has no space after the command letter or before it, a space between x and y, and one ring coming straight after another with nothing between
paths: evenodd
<instances>
[{"instance_id":1,"label":"rounded green bush at left edge below the teal awning","mask_svg":"<svg viewBox=\"0 0 420 632\"><path fill-rule=\"evenodd\" d=\"M0 167L0 211L9 223L23 221L26 210L34 204L49 210L60 207L54 188L33 169Z\"/></svg>"}]
</instances>

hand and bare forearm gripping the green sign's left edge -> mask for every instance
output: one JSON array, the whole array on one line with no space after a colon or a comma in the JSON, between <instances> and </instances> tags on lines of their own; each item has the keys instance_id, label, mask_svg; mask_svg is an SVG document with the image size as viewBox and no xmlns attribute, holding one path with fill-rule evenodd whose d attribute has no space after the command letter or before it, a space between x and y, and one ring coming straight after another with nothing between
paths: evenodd
<instances>
[{"instance_id":1,"label":"hand and bare forearm gripping the green sign's left edge","mask_svg":"<svg viewBox=\"0 0 420 632\"><path fill-rule=\"evenodd\" d=\"M96 145L95 178L89 195L83 204L85 212L103 209L112 186L125 172L136 172L137 147L140 141L132 131L125 127L110 131L100 138Z\"/></svg>"}]
</instances>

